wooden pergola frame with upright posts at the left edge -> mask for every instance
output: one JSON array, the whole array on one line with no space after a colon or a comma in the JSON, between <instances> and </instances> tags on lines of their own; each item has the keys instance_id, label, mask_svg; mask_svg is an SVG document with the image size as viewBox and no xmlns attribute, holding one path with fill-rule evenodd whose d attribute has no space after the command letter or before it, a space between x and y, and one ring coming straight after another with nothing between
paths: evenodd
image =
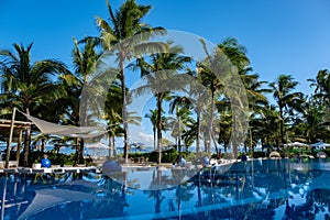
<instances>
[{"instance_id":1,"label":"wooden pergola frame with upright posts at the left edge","mask_svg":"<svg viewBox=\"0 0 330 220\"><path fill-rule=\"evenodd\" d=\"M9 166L9 157L10 157L13 131L15 129L19 130L16 158L15 158L16 163L19 163L23 130L25 130L28 128L31 128L31 124L32 124L31 122L26 122L26 121L15 121L14 119L15 119L15 108L13 109L11 120L0 119L0 131L8 131L9 130L9 140L7 142L7 151L6 151L6 164L4 164L6 168L8 168L8 166Z\"/></svg>"}]
</instances>

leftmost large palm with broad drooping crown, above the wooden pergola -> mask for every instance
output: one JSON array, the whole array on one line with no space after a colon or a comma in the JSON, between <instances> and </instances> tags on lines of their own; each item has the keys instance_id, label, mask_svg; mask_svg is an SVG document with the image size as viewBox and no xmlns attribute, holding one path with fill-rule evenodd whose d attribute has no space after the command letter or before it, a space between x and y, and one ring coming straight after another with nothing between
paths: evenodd
<instances>
[{"instance_id":1,"label":"leftmost large palm with broad drooping crown, above the wooden pergola","mask_svg":"<svg viewBox=\"0 0 330 220\"><path fill-rule=\"evenodd\" d=\"M1 101L9 108L16 107L30 114L43 103L66 96L63 87L55 84L52 77L66 73L65 65L54 59L32 63L32 43L24 47L14 44L15 53L8 50L0 52L1 63ZM23 165L28 166L31 144L31 130L28 129L24 141Z\"/></svg>"}]
</instances>

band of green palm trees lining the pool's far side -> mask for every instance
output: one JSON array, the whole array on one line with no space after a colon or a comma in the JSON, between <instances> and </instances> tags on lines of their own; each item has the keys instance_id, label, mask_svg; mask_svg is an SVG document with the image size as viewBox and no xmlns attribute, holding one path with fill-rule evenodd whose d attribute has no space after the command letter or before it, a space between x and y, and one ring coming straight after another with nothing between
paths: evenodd
<instances>
[{"instance_id":1,"label":"band of green palm trees lining the pool's far side","mask_svg":"<svg viewBox=\"0 0 330 220\"><path fill-rule=\"evenodd\" d=\"M0 51L1 118L10 119L15 107L50 122L84 127L95 119L89 116L89 105L99 108L102 120L108 124L108 140L112 150L110 156L114 156L117 147L123 147L124 163L129 160L129 125L131 122L140 123L142 118L151 121L157 163L164 162L162 140L165 132L176 140L173 145L178 146L179 155L182 146L186 151L195 146L197 154L210 153L211 146L218 153L223 146L224 153L233 148L233 156L237 157L235 150L240 143L235 140L242 134L235 133L235 127L242 124L237 123L231 106L235 100L229 96L226 80L220 80L215 73L215 69L223 69L219 61L226 57L226 62L235 67L249 101L249 111L244 112L249 128L243 134L245 142L242 143L246 150L253 151L257 144L283 148L295 141L306 144L330 141L330 70L316 69L316 75L308 80L315 90L304 94L297 90L299 82L292 75L277 73L274 81L261 80L251 66L248 50L235 37L219 41L215 53L209 52L200 40L207 56L202 61L194 61L194 57L185 55L185 48L173 42L150 41L166 34L164 28L143 23L151 6L127 0L118 10L113 10L107 0L107 9L108 20L100 16L96 19L99 36L80 41L74 38L73 48L68 48L73 51L72 64L52 58L32 62L32 43L26 46L14 43L12 48ZM96 91L106 97L105 106L99 107L97 98L94 100L96 103L84 102L84 87L96 80L95 75L107 56L114 56L117 66L102 70L102 74L112 74L114 77L109 88ZM146 84L138 89L130 88L130 74L140 76ZM228 73L222 76L229 77ZM189 80L183 80L187 78ZM143 116L134 118L128 105L134 95L142 96L147 91L154 96L154 106ZM22 116L19 118L24 120ZM25 166L29 165L31 135L35 133L38 133L35 127L24 131L22 164ZM8 131L1 131L0 134L7 141ZM123 139L123 144L117 146L116 139ZM65 141L76 143L74 160L81 163L84 139Z\"/></svg>"}]
</instances>

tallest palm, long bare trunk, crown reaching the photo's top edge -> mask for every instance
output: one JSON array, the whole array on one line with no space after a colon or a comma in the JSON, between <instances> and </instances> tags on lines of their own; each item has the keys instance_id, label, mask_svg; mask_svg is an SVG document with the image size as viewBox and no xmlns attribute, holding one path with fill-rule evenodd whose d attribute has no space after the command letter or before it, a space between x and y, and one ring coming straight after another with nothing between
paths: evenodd
<instances>
[{"instance_id":1,"label":"tallest palm, long bare trunk, crown reaching the photo's top edge","mask_svg":"<svg viewBox=\"0 0 330 220\"><path fill-rule=\"evenodd\" d=\"M151 6L141 6L135 0L127 0L120 9L114 13L109 0L107 7L110 14L108 23L101 18L97 18L97 25L100 28L100 40L106 51L118 51L118 68L120 69L120 81L122 88L122 120L124 130L124 157L128 163L128 110L127 110L127 86L125 86L125 72L124 64L136 53L146 53L155 47L163 48L162 44L147 43L144 44L150 37L155 34L163 34L165 31L162 28L151 28L142 23L142 19L151 10ZM134 36L136 36L134 38Z\"/></svg>"}]
</instances>

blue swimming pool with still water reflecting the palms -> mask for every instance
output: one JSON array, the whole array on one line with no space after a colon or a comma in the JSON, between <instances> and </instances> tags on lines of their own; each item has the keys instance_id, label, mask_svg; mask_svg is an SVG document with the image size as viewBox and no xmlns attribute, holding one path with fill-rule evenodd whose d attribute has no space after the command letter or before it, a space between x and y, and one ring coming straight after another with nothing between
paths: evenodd
<instances>
[{"instance_id":1,"label":"blue swimming pool with still water reflecting the palms","mask_svg":"<svg viewBox=\"0 0 330 220\"><path fill-rule=\"evenodd\" d=\"M157 187L160 178L169 179L168 170L150 172L150 188L143 189L125 187L107 175L94 173L1 174L1 218L330 218L329 161L234 163L206 168L168 188Z\"/></svg>"}]
</instances>

